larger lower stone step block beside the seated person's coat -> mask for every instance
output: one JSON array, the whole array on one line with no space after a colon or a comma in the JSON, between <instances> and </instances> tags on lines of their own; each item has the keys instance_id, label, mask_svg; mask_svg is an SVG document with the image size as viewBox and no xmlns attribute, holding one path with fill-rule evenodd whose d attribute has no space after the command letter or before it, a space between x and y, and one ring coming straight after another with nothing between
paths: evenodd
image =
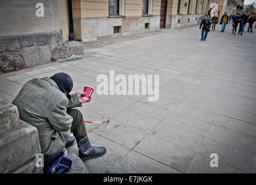
<instances>
[{"instance_id":1,"label":"larger lower stone step block beside the seated person's coat","mask_svg":"<svg viewBox=\"0 0 256 185\"><path fill-rule=\"evenodd\" d=\"M0 173L42 172L31 162L40 152L37 128L20 120L20 128L0 138Z\"/></svg>"}]
</instances>

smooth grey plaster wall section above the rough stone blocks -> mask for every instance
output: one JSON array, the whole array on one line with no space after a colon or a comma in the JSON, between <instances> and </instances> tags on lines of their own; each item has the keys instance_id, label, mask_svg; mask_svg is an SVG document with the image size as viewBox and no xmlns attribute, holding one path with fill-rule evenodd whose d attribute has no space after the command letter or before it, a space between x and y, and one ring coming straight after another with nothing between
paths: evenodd
<instances>
[{"instance_id":1,"label":"smooth grey plaster wall section above the rough stone blocks","mask_svg":"<svg viewBox=\"0 0 256 185\"><path fill-rule=\"evenodd\" d=\"M44 17L35 16L35 5L44 5ZM59 31L57 0L0 1L0 36ZM6 16L8 15L8 16Z\"/></svg>"}]
</instances>

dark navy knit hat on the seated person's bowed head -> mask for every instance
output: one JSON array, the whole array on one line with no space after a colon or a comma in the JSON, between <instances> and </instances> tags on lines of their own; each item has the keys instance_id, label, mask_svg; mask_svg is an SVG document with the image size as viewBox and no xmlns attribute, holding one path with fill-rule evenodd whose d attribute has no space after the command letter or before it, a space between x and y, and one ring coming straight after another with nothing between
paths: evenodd
<instances>
[{"instance_id":1,"label":"dark navy knit hat on the seated person's bowed head","mask_svg":"<svg viewBox=\"0 0 256 185\"><path fill-rule=\"evenodd\" d=\"M71 98L69 92L73 88L73 80L66 73L56 73L50 77L57 86L60 88L60 91L67 92L67 98Z\"/></svg>"}]
</instances>

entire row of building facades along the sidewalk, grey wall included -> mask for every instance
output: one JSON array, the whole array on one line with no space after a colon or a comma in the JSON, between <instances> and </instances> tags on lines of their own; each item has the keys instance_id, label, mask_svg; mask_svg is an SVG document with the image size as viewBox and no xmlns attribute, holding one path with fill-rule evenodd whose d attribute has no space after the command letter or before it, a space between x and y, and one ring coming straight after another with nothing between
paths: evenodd
<instances>
[{"instance_id":1,"label":"entire row of building facades along the sidewalk, grey wall included","mask_svg":"<svg viewBox=\"0 0 256 185\"><path fill-rule=\"evenodd\" d=\"M212 2L216 0L0 0L0 72L64 56L69 60L73 54L82 57L82 46L81 52L70 49L81 43L63 45L63 41L86 42L199 24ZM217 3L222 16L241 12L243 0Z\"/></svg>"}]
</instances>

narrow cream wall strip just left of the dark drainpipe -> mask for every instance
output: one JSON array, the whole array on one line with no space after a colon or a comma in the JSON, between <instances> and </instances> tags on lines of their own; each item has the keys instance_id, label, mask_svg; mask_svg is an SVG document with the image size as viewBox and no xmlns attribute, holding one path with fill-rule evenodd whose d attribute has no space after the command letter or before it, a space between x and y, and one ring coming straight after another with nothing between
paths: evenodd
<instances>
[{"instance_id":1,"label":"narrow cream wall strip just left of the dark drainpipe","mask_svg":"<svg viewBox=\"0 0 256 185\"><path fill-rule=\"evenodd\" d=\"M58 0L59 7L59 22L60 29L62 29L64 41L68 40L69 22L68 22L68 5L67 0Z\"/></svg>"}]
</instances>

